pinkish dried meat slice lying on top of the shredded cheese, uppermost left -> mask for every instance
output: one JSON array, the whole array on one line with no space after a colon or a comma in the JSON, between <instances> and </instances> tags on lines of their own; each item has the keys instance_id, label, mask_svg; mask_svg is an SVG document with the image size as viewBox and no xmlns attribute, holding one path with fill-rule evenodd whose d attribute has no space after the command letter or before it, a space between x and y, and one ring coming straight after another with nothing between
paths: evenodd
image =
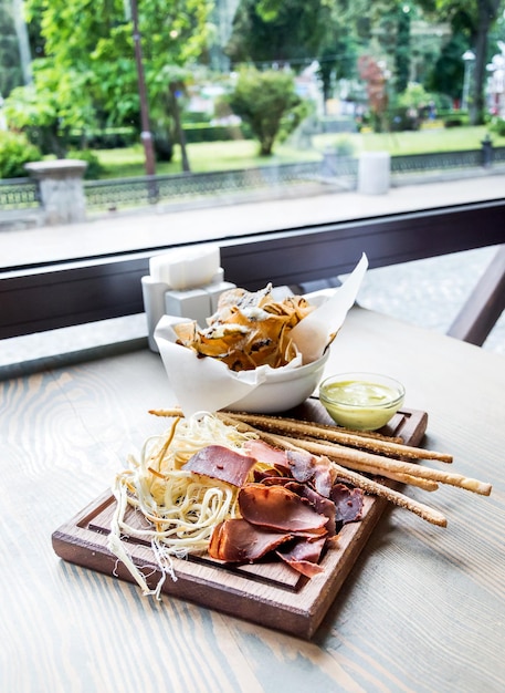
<instances>
[{"instance_id":1,"label":"pinkish dried meat slice lying on top of the shredded cheese, uppermost left","mask_svg":"<svg viewBox=\"0 0 505 693\"><path fill-rule=\"evenodd\" d=\"M190 457L183 468L240 488L255 464L255 457L241 455L223 445L208 445Z\"/></svg>"}]
</instances>

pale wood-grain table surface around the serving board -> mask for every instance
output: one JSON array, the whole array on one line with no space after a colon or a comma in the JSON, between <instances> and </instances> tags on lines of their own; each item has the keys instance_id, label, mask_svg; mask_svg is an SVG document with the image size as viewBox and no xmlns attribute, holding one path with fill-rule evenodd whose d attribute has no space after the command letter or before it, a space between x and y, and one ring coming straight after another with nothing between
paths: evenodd
<instances>
[{"instance_id":1,"label":"pale wood-grain table surface around the serving board","mask_svg":"<svg viewBox=\"0 0 505 693\"><path fill-rule=\"evenodd\" d=\"M424 446L493 484L408 494L446 528L387 508L312 641L64 562L52 532L106 489L173 404L147 350L0 383L3 693L505 690L505 360L354 309L327 372L401 380Z\"/></svg>"}]
</instances>

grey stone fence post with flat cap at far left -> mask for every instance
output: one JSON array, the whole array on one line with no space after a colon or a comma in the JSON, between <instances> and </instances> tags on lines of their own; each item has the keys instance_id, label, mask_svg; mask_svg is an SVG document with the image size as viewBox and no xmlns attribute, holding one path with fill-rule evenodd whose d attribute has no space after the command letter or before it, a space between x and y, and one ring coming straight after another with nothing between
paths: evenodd
<instances>
[{"instance_id":1,"label":"grey stone fence post with flat cap at far left","mask_svg":"<svg viewBox=\"0 0 505 693\"><path fill-rule=\"evenodd\" d=\"M56 159L33 162L25 168L39 183L44 224L72 224L86 217L83 176L86 162Z\"/></svg>"}]
</instances>

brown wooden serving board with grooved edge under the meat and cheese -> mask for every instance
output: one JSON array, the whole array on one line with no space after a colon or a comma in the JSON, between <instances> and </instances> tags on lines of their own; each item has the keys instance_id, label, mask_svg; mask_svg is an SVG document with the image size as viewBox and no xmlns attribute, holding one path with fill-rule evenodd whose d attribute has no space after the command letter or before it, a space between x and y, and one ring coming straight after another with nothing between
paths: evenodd
<instances>
[{"instance_id":1,"label":"brown wooden serving board with grooved edge under the meat and cheese","mask_svg":"<svg viewBox=\"0 0 505 693\"><path fill-rule=\"evenodd\" d=\"M294 413L291 412L290 415ZM332 423L316 400L298 407L296 416ZM419 445L428 415L402 410L381 433L401 436ZM177 580L167 577L162 592L202 607L243 618L261 625L309 639L335 600L349 570L365 547L387 500L365 496L362 519L346 525L335 546L322 559L324 571L307 579L283 562L230 566L207 556L175 559ZM107 535L115 498L104 493L52 536L53 548L62 559L122 580L134 581L128 570L107 549ZM135 563L156 587L160 572L150 546L128 541Z\"/></svg>"}]
</instances>

